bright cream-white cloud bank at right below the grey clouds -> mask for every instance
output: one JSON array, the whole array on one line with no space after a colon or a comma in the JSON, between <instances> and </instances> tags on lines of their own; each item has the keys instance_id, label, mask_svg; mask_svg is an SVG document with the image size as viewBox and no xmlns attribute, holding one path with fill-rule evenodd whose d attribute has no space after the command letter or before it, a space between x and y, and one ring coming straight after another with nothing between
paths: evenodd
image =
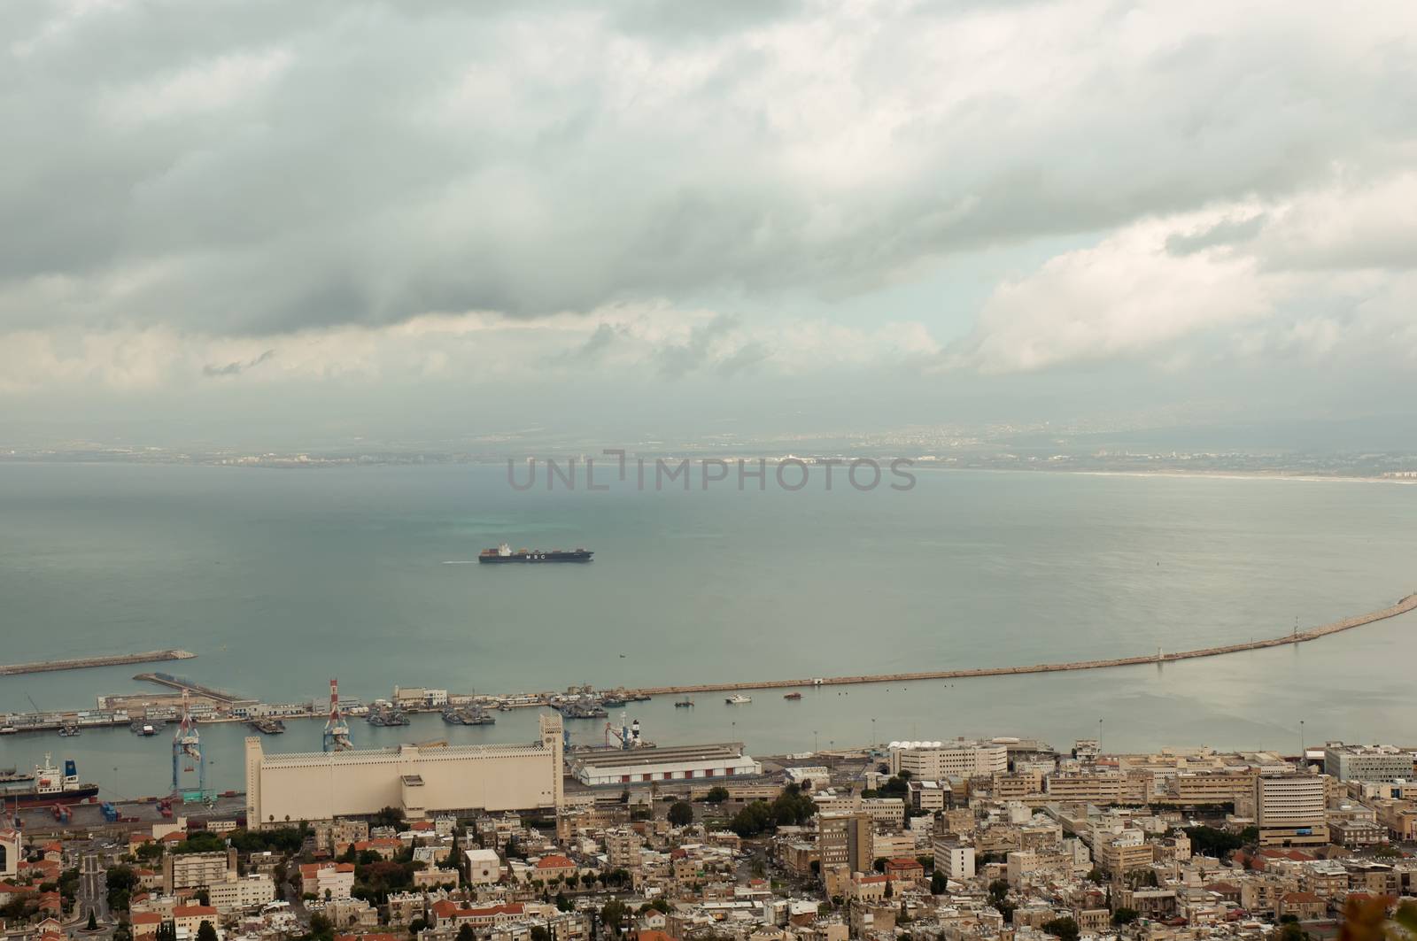
<instances>
[{"instance_id":1,"label":"bright cream-white cloud bank at right below the grey clouds","mask_svg":"<svg viewBox=\"0 0 1417 941\"><path fill-rule=\"evenodd\" d=\"M1397 272L1417 269L1413 218L1417 176L1399 173L1145 220L999 285L942 361L1007 373L1127 357L1172 370L1233 356L1391 359L1382 334L1408 281ZM1217 349L1197 356L1190 340Z\"/></svg>"}]
</instances>

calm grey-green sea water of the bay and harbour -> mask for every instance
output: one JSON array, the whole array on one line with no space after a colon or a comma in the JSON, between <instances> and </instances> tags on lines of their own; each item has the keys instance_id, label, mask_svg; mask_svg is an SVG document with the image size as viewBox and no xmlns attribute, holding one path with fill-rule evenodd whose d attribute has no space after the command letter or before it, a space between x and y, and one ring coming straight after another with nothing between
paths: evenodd
<instances>
[{"instance_id":1,"label":"calm grey-green sea water of the bay and harbour","mask_svg":"<svg viewBox=\"0 0 1417 941\"><path fill-rule=\"evenodd\" d=\"M1282 633L1417 590L1417 488L1357 482L922 472L908 493L514 493L503 468L254 470L0 465L0 660L183 646L169 665L269 700L393 686L504 692L986 666ZM591 565L448 564L513 546ZM1108 747L1417 741L1417 616L1299 648L1094 673L718 696L632 710L660 743L760 753L873 738L1097 734ZM115 667L0 680L0 710L130 692ZM871 721L874 719L874 723ZM436 716L361 744L534 737ZM572 723L602 738L602 723ZM292 723L269 748L319 747ZM207 727L239 787L239 726ZM77 757L119 795L164 788L166 738L0 741Z\"/></svg>"}]
</instances>

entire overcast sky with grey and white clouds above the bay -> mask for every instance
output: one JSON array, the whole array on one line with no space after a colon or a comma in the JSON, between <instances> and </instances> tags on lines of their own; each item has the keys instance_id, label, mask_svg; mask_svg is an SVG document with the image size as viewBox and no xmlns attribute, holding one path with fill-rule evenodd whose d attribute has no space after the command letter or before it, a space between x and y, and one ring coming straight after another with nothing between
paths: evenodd
<instances>
[{"instance_id":1,"label":"entire overcast sky with grey and white clouds above the bay","mask_svg":"<svg viewBox=\"0 0 1417 941\"><path fill-rule=\"evenodd\" d=\"M13 441L1414 410L1411 0L6 0L0 126Z\"/></svg>"}]
</instances>

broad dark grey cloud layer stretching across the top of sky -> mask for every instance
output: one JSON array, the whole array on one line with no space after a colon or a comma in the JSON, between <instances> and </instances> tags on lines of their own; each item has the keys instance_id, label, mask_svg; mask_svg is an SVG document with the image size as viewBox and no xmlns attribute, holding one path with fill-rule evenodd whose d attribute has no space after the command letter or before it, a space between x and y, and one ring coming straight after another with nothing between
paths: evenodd
<instances>
[{"instance_id":1,"label":"broad dark grey cloud layer stretching across the top of sky","mask_svg":"<svg viewBox=\"0 0 1417 941\"><path fill-rule=\"evenodd\" d=\"M1207 9L13 0L0 329L836 296L1400 159L1400 30Z\"/></svg>"}]
</instances>

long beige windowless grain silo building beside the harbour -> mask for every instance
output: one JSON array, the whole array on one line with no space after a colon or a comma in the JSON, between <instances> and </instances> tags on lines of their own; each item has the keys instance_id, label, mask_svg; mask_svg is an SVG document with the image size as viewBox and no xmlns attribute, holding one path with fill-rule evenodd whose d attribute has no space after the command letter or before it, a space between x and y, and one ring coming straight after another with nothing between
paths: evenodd
<instances>
[{"instance_id":1,"label":"long beige windowless grain silo building beside the harbour","mask_svg":"<svg viewBox=\"0 0 1417 941\"><path fill-rule=\"evenodd\" d=\"M540 741L510 745L268 755L261 738L247 738L247 819L252 826L327 821L385 806L415 821L434 813L560 808L561 717L540 719Z\"/></svg>"}]
</instances>

